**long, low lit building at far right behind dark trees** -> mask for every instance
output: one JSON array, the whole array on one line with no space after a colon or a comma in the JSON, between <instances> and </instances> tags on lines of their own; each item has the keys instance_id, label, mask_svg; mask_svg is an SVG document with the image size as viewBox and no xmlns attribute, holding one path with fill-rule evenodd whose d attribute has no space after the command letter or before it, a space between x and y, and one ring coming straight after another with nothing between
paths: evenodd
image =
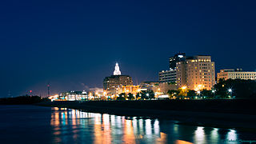
<instances>
[{"instance_id":1,"label":"long, low lit building at far right behind dark trees","mask_svg":"<svg viewBox=\"0 0 256 144\"><path fill-rule=\"evenodd\" d=\"M217 74L217 79L220 78L226 79L251 79L256 80L256 72L255 71L242 71L242 69L224 69L220 70Z\"/></svg>"}]
</instances>

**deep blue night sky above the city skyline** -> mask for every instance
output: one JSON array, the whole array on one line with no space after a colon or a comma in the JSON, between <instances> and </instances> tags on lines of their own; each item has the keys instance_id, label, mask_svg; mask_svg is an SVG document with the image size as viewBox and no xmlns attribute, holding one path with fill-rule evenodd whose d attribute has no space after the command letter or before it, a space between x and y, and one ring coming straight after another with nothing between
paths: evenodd
<instances>
[{"instance_id":1,"label":"deep blue night sky above the city skyline","mask_svg":"<svg viewBox=\"0 0 256 144\"><path fill-rule=\"evenodd\" d=\"M255 70L255 1L27 1L0 5L0 90L46 95L102 87L118 62L134 83L158 80L178 51Z\"/></svg>"}]
</instances>

